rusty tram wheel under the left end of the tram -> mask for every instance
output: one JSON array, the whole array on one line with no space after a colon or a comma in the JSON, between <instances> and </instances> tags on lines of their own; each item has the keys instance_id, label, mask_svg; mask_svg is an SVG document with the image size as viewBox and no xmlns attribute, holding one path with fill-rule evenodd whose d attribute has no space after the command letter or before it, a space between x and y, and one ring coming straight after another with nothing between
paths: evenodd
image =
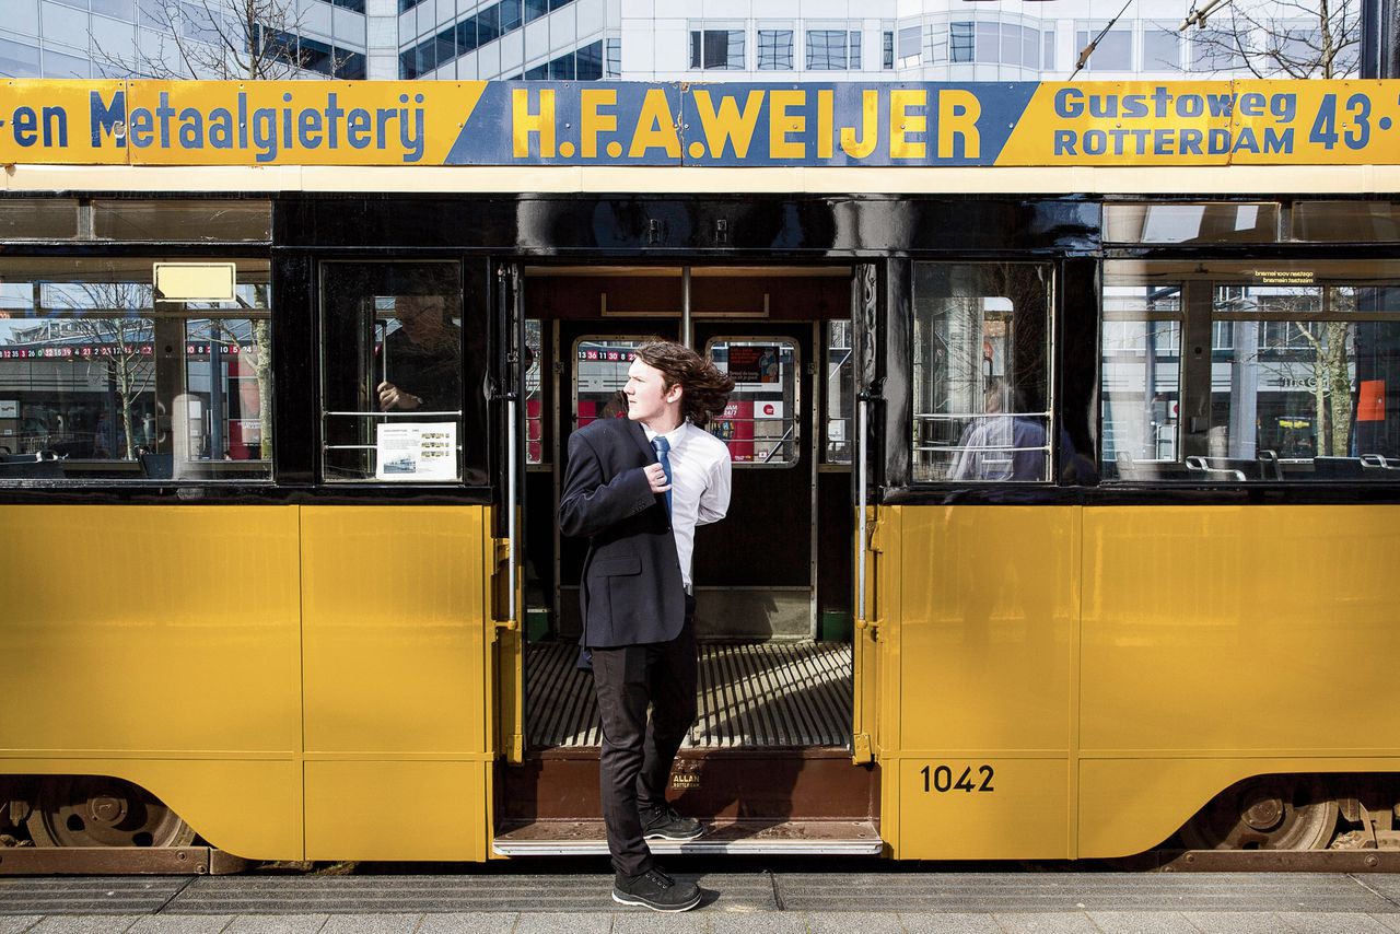
<instances>
[{"instance_id":1,"label":"rusty tram wheel under the left end of the tram","mask_svg":"<svg viewBox=\"0 0 1400 934\"><path fill-rule=\"evenodd\" d=\"M35 846L189 846L195 830L154 795L120 779L74 776L39 784L25 822Z\"/></svg>"}]
</instances>

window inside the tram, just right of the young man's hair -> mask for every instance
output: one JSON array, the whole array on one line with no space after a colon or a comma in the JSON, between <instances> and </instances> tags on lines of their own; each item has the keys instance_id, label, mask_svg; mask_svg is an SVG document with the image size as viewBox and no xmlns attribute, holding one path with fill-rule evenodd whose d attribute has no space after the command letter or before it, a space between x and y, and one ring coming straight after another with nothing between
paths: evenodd
<instances>
[{"instance_id":1,"label":"window inside the tram, just right of the young man's hair","mask_svg":"<svg viewBox=\"0 0 1400 934\"><path fill-rule=\"evenodd\" d=\"M797 463L802 449L797 342L721 337L706 344L706 356L734 377L724 414L710 423L710 434L728 445L729 459L741 466Z\"/></svg>"}]
</instances>

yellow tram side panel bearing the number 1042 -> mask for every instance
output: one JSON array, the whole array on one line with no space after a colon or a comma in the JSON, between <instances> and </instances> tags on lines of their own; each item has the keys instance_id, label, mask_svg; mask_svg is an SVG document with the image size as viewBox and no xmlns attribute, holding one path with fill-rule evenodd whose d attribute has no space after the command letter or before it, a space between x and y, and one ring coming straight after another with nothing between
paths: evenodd
<instances>
[{"instance_id":1,"label":"yellow tram side panel bearing the number 1042","mask_svg":"<svg viewBox=\"0 0 1400 934\"><path fill-rule=\"evenodd\" d=\"M882 833L899 858L1072 856L1078 507L885 507ZM893 552L893 553L890 553ZM897 571L895 570L897 564Z\"/></svg>"}]
</instances>

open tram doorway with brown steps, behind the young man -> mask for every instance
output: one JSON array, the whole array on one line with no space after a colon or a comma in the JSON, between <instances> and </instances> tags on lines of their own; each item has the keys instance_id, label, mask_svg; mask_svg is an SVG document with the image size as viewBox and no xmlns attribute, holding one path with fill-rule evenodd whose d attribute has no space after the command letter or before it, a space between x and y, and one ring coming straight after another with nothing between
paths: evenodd
<instances>
[{"instance_id":1,"label":"open tram doorway with brown steps, behind the young man","mask_svg":"<svg viewBox=\"0 0 1400 934\"><path fill-rule=\"evenodd\" d=\"M602 742L592 681L575 667L587 542L563 538L556 515L570 434L626 417L631 351L658 337L710 356L736 382L708 426L729 448L732 496L727 518L696 535L699 718L673 788L690 812L725 823L711 849L749 839L745 819L798 828L798 837L813 833L811 821L843 819L854 836L818 833L827 849L811 851L878 851L878 788L850 753L853 274L850 266L524 267L526 755L503 770L497 851L602 844L601 823L568 846L550 825L599 815ZM781 829L766 833L792 843Z\"/></svg>"}]
</instances>

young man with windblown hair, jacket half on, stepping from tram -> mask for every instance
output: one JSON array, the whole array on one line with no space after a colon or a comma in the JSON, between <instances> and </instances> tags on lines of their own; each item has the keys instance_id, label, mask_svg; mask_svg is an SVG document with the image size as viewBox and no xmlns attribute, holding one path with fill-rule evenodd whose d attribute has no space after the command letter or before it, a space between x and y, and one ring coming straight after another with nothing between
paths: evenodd
<instances>
[{"instance_id":1,"label":"young man with windblown hair, jacket half on, stepping from tram","mask_svg":"<svg viewBox=\"0 0 1400 934\"><path fill-rule=\"evenodd\" d=\"M581 641L592 653L603 725L613 900L658 912L700 903L693 882L657 867L647 839L704 833L666 804L666 786L696 716L694 527L729 508L729 449L704 424L731 389L734 379L687 347L640 347L623 389L627 417L599 419L568 438L559 506L563 534L588 536Z\"/></svg>"}]
</instances>

